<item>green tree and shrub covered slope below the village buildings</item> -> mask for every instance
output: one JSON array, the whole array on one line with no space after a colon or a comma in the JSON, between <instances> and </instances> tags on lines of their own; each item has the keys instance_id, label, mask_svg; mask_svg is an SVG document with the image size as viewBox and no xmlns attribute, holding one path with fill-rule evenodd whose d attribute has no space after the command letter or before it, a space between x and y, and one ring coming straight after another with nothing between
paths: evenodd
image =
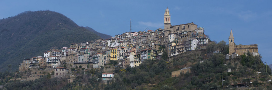
<instances>
[{"instance_id":1,"label":"green tree and shrub covered slope below the village buildings","mask_svg":"<svg viewBox=\"0 0 272 90\"><path fill-rule=\"evenodd\" d=\"M206 49L188 51L168 58L169 60L145 60L138 67L124 69L110 61L104 68L76 69L73 70L76 76L73 83L65 82L65 78L51 78L49 74L35 81L14 84L14 81L7 80L14 75L11 73L8 77L8 72L3 72L0 73L0 85L7 89L206 90L248 89L247 86L254 90L272 88L271 69L263 63L260 55L245 53L237 58L225 60L225 52L222 50L219 53L210 51L220 48L219 44L210 43ZM184 67L191 67L190 72L171 77L172 71ZM114 72L115 76L114 79L104 82L102 73L108 69L113 69L110 72ZM229 69L230 72L227 72ZM20 75L17 76L19 77Z\"/></svg>"}]
</instances>

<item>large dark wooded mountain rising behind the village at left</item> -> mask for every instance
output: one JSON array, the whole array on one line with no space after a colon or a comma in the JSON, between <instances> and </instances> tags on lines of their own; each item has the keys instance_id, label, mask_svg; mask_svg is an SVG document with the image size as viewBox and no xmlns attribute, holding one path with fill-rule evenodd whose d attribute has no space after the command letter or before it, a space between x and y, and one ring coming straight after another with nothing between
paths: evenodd
<instances>
[{"instance_id":1,"label":"large dark wooded mountain rising behind the village at left","mask_svg":"<svg viewBox=\"0 0 272 90\"><path fill-rule=\"evenodd\" d=\"M5 71L8 64L16 70L24 58L43 55L51 48L60 49L70 43L100 37L63 14L45 10L26 11L1 19L0 38L0 71Z\"/></svg>"}]
</instances>

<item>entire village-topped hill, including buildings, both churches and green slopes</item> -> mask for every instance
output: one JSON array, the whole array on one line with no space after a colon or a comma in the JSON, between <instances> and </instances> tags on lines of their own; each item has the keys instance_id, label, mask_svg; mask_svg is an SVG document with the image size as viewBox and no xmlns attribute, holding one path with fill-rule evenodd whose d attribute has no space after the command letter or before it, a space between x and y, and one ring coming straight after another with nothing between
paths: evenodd
<instances>
[{"instance_id":1,"label":"entire village-topped hill, including buildings, both churches and green slopes","mask_svg":"<svg viewBox=\"0 0 272 90\"><path fill-rule=\"evenodd\" d=\"M271 69L257 44L235 45L232 30L228 44L216 43L193 22L171 25L170 16L167 8L164 29L72 42L24 58L16 73L0 72L0 88L270 88Z\"/></svg>"}]
</instances>

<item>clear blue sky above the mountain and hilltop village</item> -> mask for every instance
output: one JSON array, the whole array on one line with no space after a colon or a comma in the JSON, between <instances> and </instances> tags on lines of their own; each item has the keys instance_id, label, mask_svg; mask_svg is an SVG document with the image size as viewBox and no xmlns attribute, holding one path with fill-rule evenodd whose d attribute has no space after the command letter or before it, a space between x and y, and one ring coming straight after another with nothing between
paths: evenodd
<instances>
[{"instance_id":1,"label":"clear blue sky above the mountain and hilltop village","mask_svg":"<svg viewBox=\"0 0 272 90\"><path fill-rule=\"evenodd\" d=\"M232 29L235 43L258 44L267 64L272 64L272 6L270 0L2 0L0 19L24 11L52 10L111 36L132 31L164 28L168 6L171 24L194 22L204 27L212 41L228 41Z\"/></svg>"}]
</instances>

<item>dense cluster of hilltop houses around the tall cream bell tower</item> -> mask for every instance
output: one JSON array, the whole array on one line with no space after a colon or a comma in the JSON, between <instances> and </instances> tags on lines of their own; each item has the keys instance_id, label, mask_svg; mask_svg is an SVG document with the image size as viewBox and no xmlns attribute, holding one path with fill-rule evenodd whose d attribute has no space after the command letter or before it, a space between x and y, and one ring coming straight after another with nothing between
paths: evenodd
<instances>
[{"instance_id":1,"label":"dense cluster of hilltop houses around the tall cream bell tower","mask_svg":"<svg viewBox=\"0 0 272 90\"><path fill-rule=\"evenodd\" d=\"M108 39L72 43L62 49L50 49L43 56L24 59L19 64L19 71L28 70L37 64L56 70L62 70L61 67L66 64L64 71L79 66L86 69L101 68L110 63L109 60L117 61L124 68L137 67L144 60L161 59L163 53L172 57L204 48L209 43L203 27L198 27L193 22L172 26L170 16L167 8L164 13L164 29L124 32ZM236 46L233 51L238 52L240 47ZM60 75L59 72L57 75Z\"/></svg>"}]
</instances>

